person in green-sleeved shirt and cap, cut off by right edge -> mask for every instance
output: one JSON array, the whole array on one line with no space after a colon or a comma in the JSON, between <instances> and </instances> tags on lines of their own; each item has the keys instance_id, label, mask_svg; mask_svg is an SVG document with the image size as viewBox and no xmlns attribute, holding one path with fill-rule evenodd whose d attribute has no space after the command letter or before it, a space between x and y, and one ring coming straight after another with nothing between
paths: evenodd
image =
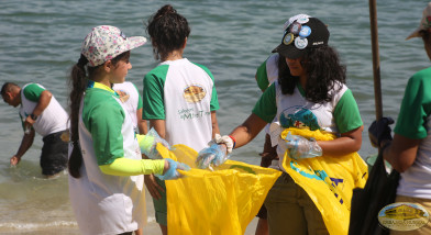
<instances>
[{"instance_id":1,"label":"person in green-sleeved shirt and cap, cut off by right edge","mask_svg":"<svg viewBox=\"0 0 431 235\"><path fill-rule=\"evenodd\" d=\"M431 2L423 10L419 27L406 40L421 37L431 59ZM408 81L397 124L383 118L369 126L372 144L379 146L384 158L400 172L396 202L422 205L431 212L431 67L416 72ZM431 223L415 231L390 234L431 234Z\"/></svg>"}]
</instances>

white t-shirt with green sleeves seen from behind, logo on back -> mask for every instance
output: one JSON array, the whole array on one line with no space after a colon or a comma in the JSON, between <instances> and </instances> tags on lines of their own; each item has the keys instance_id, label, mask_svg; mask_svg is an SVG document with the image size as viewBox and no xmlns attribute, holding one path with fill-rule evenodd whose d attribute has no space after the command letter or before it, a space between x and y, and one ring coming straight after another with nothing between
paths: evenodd
<instances>
[{"instance_id":1,"label":"white t-shirt with green sleeves seen from behind, logo on back","mask_svg":"<svg viewBox=\"0 0 431 235\"><path fill-rule=\"evenodd\" d=\"M211 111L219 109L211 72L187 58L159 64L144 78L143 118L165 120L165 139L199 152L212 138Z\"/></svg>"}]
</instances>

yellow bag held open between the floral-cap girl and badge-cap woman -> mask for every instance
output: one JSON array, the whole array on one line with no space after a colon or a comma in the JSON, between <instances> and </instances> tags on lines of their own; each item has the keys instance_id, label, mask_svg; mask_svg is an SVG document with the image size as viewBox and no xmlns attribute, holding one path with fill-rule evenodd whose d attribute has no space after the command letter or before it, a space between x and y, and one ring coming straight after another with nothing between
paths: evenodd
<instances>
[{"instance_id":1,"label":"yellow bag held open between the floral-cap girl and badge-cap woman","mask_svg":"<svg viewBox=\"0 0 431 235\"><path fill-rule=\"evenodd\" d=\"M244 234L281 175L234 160L226 160L214 171L198 169L195 164L198 153L186 145L175 145L168 150L158 144L157 150L164 158L191 167L189 171L180 171L186 177L165 181L169 235Z\"/></svg>"}]
</instances>

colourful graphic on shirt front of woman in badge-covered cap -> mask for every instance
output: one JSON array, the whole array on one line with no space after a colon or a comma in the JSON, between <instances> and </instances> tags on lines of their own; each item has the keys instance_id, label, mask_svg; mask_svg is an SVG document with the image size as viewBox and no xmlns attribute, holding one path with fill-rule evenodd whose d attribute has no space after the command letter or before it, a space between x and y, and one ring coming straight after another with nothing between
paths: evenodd
<instances>
[{"instance_id":1,"label":"colourful graphic on shirt front of woman in badge-covered cap","mask_svg":"<svg viewBox=\"0 0 431 235\"><path fill-rule=\"evenodd\" d=\"M310 131L320 130L319 120L314 113L301 105L290 107L284 110L278 120L285 128L303 128L308 126Z\"/></svg>"}]
</instances>

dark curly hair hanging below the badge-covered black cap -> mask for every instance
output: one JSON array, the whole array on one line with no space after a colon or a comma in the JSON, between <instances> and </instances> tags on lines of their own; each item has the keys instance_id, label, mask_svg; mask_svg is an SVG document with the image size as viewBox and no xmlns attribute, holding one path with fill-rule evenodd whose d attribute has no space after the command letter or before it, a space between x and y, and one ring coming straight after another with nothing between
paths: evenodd
<instances>
[{"instance_id":1,"label":"dark curly hair hanging below the badge-covered black cap","mask_svg":"<svg viewBox=\"0 0 431 235\"><path fill-rule=\"evenodd\" d=\"M302 57L301 65L307 71L307 86L303 88L306 99L314 103L328 102L332 99L329 93L334 89L336 81L345 83L346 69L340 64L339 54L331 46L308 48ZM292 94L299 77L290 74L286 58L279 55L278 83L283 94ZM339 87L340 90L342 87Z\"/></svg>"}]
</instances>

